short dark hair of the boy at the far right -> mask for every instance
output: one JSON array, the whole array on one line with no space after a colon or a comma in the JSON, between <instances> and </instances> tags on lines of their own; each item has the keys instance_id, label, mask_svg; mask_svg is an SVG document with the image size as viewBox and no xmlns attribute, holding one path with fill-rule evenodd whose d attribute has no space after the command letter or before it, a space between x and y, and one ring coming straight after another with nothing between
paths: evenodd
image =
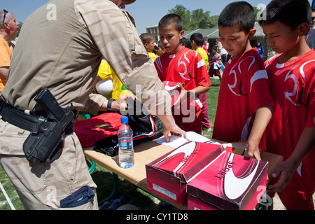
<instances>
[{"instance_id":1,"label":"short dark hair of the boy at the far right","mask_svg":"<svg viewBox=\"0 0 315 224\"><path fill-rule=\"evenodd\" d=\"M303 22L311 24L311 6L307 0L273 0L260 16L260 25L270 25L276 21L295 29Z\"/></svg>"}]
</instances>

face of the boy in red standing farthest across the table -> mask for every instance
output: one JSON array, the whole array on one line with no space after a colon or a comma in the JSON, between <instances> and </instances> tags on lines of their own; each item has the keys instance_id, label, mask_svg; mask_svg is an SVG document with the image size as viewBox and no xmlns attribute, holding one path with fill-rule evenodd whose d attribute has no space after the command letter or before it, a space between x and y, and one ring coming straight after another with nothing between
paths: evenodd
<instances>
[{"instance_id":1,"label":"face of the boy in red standing farthest across the table","mask_svg":"<svg viewBox=\"0 0 315 224\"><path fill-rule=\"evenodd\" d=\"M181 50L180 44L181 38L183 38L184 31L177 31L174 25L167 27L159 27L160 41L163 48L169 55L174 55L176 52Z\"/></svg>"}]
</instances>

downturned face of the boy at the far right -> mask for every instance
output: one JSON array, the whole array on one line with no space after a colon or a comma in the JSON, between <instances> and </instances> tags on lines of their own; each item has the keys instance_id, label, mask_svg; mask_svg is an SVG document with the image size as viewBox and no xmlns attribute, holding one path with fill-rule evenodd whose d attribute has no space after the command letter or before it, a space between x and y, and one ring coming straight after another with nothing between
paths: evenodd
<instances>
[{"instance_id":1,"label":"downturned face of the boy at the far right","mask_svg":"<svg viewBox=\"0 0 315 224\"><path fill-rule=\"evenodd\" d=\"M297 43L297 29L292 30L282 22L276 21L271 25L262 25L267 37L267 45L277 53L285 53L295 47Z\"/></svg>"}]
</instances>

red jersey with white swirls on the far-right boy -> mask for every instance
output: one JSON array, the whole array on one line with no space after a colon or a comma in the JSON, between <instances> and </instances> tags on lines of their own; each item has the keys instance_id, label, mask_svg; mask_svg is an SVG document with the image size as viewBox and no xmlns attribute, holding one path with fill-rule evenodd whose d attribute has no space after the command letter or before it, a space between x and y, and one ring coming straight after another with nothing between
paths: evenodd
<instances>
[{"instance_id":1,"label":"red jersey with white swirls on the far-right boy","mask_svg":"<svg viewBox=\"0 0 315 224\"><path fill-rule=\"evenodd\" d=\"M315 52L279 64L281 55L265 62L274 99L274 113L266 129L267 151L287 160L293 153L304 127L315 127ZM295 203L293 191L313 194L315 190L315 151L311 151L293 175L290 185L281 191L288 203ZM283 196L284 195L284 196ZM283 200L283 199L281 199Z\"/></svg>"}]
</instances>

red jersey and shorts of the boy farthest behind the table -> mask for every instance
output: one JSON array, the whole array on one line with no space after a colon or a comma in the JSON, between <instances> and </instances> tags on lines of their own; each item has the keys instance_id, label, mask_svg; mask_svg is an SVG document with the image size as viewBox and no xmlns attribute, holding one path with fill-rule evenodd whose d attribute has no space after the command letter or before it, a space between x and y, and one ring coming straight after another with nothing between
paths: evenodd
<instances>
[{"instance_id":1,"label":"red jersey and shorts of the boy farthest behind the table","mask_svg":"<svg viewBox=\"0 0 315 224\"><path fill-rule=\"evenodd\" d=\"M185 90L193 90L200 85L211 85L204 59L202 59L200 53L195 50L182 48L174 55L167 55L167 53L165 53L158 57L154 64L160 80L183 83ZM190 101L186 101L185 104L187 105L185 106L181 104L181 108L179 109L174 109L173 107L174 119L176 120L177 125L186 132L194 131L201 134L202 123L200 106L202 106L202 104L199 100L197 100L197 102L195 102L195 100ZM184 108L188 109L188 111L185 111ZM185 112L189 112L189 114L184 114ZM193 119L190 119L192 113L195 113L195 116ZM189 119L186 119L185 121L183 119L184 116Z\"/></svg>"}]
</instances>

